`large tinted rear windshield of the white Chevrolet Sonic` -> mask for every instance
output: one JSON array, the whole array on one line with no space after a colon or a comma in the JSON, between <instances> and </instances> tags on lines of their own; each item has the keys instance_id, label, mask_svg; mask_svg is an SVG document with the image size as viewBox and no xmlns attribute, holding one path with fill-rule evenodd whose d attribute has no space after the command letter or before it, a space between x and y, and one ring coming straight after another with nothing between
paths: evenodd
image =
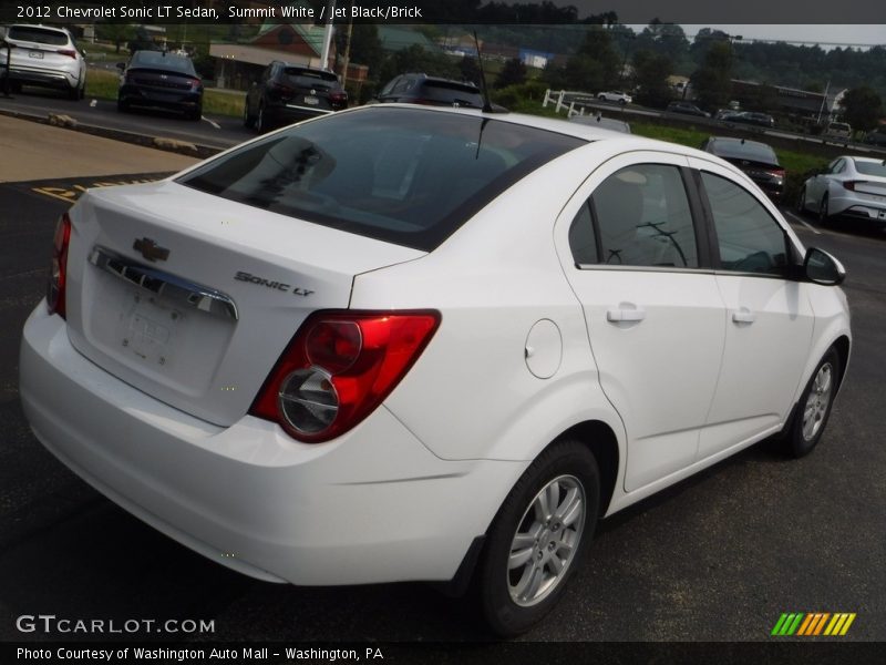
<instances>
[{"instance_id":1,"label":"large tinted rear windshield of the white Chevrolet Sonic","mask_svg":"<svg viewBox=\"0 0 886 665\"><path fill-rule=\"evenodd\" d=\"M373 106L293 125L177 182L430 252L519 178L585 143L478 115Z\"/></svg>"}]
</instances>

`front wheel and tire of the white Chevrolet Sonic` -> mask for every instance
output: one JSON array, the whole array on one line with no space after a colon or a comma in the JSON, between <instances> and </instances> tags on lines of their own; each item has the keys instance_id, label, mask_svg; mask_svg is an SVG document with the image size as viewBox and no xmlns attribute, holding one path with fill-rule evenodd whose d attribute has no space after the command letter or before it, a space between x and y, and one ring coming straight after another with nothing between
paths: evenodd
<instances>
[{"instance_id":1,"label":"front wheel and tire of the white Chevrolet Sonic","mask_svg":"<svg viewBox=\"0 0 886 665\"><path fill-rule=\"evenodd\" d=\"M821 440L836 397L841 367L839 354L833 348L815 366L782 441L790 457L807 456Z\"/></svg>"}]
</instances>

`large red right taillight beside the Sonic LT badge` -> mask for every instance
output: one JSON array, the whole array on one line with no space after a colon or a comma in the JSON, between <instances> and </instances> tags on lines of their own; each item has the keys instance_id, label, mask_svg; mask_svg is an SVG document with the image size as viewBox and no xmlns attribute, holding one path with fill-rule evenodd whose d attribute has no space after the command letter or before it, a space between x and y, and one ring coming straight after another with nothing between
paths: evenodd
<instances>
[{"instance_id":1,"label":"large red right taillight beside the Sonic LT badge","mask_svg":"<svg viewBox=\"0 0 886 665\"><path fill-rule=\"evenodd\" d=\"M409 371L437 311L319 311L302 324L249 412L299 441L333 439L363 420Z\"/></svg>"}]
</instances>

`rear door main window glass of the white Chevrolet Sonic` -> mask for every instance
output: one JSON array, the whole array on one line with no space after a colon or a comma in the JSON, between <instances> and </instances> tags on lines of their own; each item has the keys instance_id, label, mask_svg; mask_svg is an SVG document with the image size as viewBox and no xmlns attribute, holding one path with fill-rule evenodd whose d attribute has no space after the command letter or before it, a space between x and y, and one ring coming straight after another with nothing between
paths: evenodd
<instances>
[{"instance_id":1,"label":"rear door main window glass of the white Chevrolet Sonic","mask_svg":"<svg viewBox=\"0 0 886 665\"><path fill-rule=\"evenodd\" d=\"M699 266L692 214L680 171L638 164L610 175L591 195L600 264Z\"/></svg>"}]
</instances>

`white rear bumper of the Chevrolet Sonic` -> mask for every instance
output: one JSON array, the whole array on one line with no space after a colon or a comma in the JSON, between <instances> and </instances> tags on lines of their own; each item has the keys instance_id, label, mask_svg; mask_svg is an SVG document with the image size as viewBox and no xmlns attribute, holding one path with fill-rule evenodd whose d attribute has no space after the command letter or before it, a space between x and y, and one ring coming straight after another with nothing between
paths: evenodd
<instances>
[{"instance_id":1,"label":"white rear bumper of the Chevrolet Sonic","mask_svg":"<svg viewBox=\"0 0 886 665\"><path fill-rule=\"evenodd\" d=\"M25 416L63 463L171 538L268 581L449 581L525 469L443 461L383 407L318 446L248 416L209 424L85 359L42 303L20 368Z\"/></svg>"}]
</instances>

